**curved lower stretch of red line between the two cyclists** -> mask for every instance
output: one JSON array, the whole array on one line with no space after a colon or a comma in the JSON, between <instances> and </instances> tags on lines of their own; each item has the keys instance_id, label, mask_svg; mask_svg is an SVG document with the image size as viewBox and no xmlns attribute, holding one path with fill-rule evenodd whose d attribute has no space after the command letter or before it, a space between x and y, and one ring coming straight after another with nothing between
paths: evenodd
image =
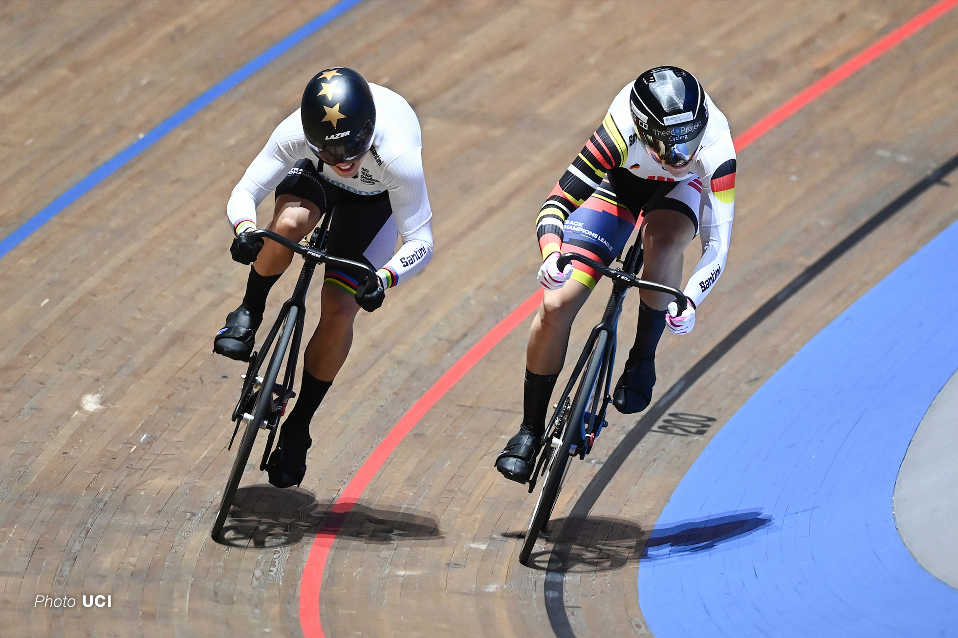
<instances>
[{"instance_id":1,"label":"curved lower stretch of red line between the two cyclists","mask_svg":"<svg viewBox=\"0 0 958 638\"><path fill-rule=\"evenodd\" d=\"M436 404L436 401L442 399L445 393L459 382L459 379L466 376L472 366L486 356L497 343L502 341L504 336L512 332L516 326L532 314L541 301L542 292L536 292L522 302L518 308L510 312L505 319L496 324L486 336L479 339L479 342L472 346L468 353L452 364L445 375L441 376L422 395L422 398L416 401L409 408L409 411L399 419L399 422L390 430L386 438L376 445L373 454L370 455L362 467L359 467L353 480L339 494L330 513L323 517L323 525L309 548L309 556L306 566L303 568L303 579L300 585L300 624L303 627L303 634L307 638L322 638L326 635L323 632L323 625L319 617L319 590L323 584L323 570L326 567L326 558L330 554L332 541L335 540L336 533L339 531L346 514L353 509L362 492L366 490L366 486L373 480L379 467L382 467L386 458L396 449L396 446L409 433L409 430L413 429L413 426Z\"/></svg>"}]
</instances>

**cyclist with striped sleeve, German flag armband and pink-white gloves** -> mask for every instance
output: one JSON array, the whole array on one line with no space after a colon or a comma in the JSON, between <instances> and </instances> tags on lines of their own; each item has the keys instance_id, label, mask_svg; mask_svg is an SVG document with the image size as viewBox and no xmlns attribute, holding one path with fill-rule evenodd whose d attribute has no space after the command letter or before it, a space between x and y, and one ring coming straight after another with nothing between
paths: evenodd
<instances>
[{"instance_id":1,"label":"cyclist with striped sleeve, German flag armband and pink-white gloves","mask_svg":"<svg viewBox=\"0 0 958 638\"><path fill-rule=\"evenodd\" d=\"M701 259L683 289L684 312L678 314L665 293L640 293L635 343L613 404L625 414L641 412L652 397L663 330L690 332L696 307L725 268L735 172L728 121L689 72L650 69L612 101L538 215L538 281L546 291L526 350L522 424L496 459L507 478L525 483L533 472L572 322L601 277L580 262L559 271L559 255L578 253L609 265L641 223L642 278L678 287L682 253L701 236Z\"/></svg>"}]
</instances>

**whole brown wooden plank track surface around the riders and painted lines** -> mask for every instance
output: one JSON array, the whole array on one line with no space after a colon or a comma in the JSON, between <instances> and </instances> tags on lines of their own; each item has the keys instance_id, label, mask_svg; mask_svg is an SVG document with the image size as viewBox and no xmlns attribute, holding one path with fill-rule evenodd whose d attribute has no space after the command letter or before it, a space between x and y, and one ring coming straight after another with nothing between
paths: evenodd
<instances>
[{"instance_id":1,"label":"whole brown wooden plank track surface around the riders and painted lines","mask_svg":"<svg viewBox=\"0 0 958 638\"><path fill-rule=\"evenodd\" d=\"M303 635L300 577L324 513L423 392L535 292L536 211L616 91L653 65L688 68L737 134L930 4L367 0L242 82L0 259L0 635ZM329 6L0 5L0 238ZM952 11L741 152L727 272L696 330L663 339L659 393L958 150L956 51ZM312 423L302 488L251 472L231 523L247 540L222 546L208 532L243 366L210 350L246 273L230 261L223 210L308 78L332 64L417 110L436 253L359 317ZM641 439L562 567L574 635L650 635L638 560L685 470L764 379L956 217L952 190L929 190L675 403L716 419L708 434ZM528 325L422 418L347 517L323 581L326 635L554 635L549 545L540 569L517 563L531 498L491 467L520 418ZM635 420L610 422L590 462L573 464L560 515ZM34 607L37 595L91 594L111 607Z\"/></svg>"}]
</instances>

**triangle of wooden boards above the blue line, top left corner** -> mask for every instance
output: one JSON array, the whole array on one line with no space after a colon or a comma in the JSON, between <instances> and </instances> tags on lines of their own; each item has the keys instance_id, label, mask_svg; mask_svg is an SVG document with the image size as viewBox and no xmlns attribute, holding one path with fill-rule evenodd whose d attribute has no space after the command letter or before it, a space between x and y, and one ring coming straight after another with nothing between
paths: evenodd
<instances>
[{"instance_id":1,"label":"triangle of wooden boards above the blue line, top left corner","mask_svg":"<svg viewBox=\"0 0 958 638\"><path fill-rule=\"evenodd\" d=\"M331 4L6 3L0 236Z\"/></svg>"}]
</instances>

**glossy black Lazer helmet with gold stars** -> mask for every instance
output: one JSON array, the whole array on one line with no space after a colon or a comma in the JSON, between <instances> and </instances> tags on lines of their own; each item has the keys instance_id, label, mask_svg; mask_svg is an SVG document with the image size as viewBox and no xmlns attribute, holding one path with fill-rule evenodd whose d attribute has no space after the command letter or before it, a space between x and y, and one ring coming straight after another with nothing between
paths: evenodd
<instances>
[{"instance_id":1,"label":"glossy black Lazer helmet with gold stars","mask_svg":"<svg viewBox=\"0 0 958 638\"><path fill-rule=\"evenodd\" d=\"M327 164L352 162L373 145L376 104L353 69L335 66L309 80L301 115L309 148Z\"/></svg>"}]
</instances>

